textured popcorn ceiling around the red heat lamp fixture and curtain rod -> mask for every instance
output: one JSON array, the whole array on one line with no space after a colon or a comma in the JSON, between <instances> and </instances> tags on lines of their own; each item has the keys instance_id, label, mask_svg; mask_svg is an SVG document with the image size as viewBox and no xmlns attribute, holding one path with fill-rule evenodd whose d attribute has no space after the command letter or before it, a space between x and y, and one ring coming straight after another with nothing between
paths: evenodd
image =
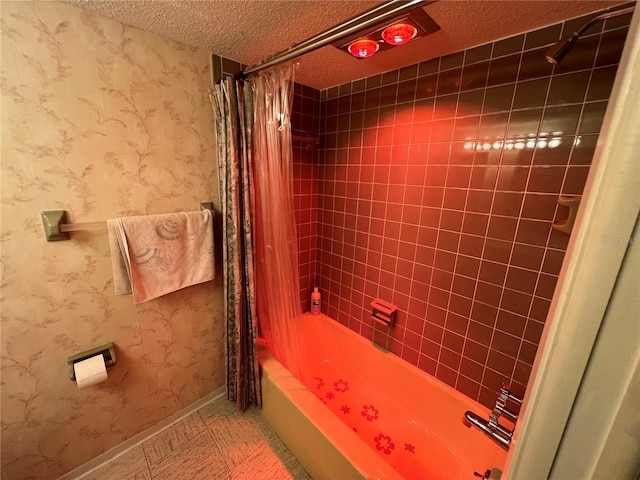
<instances>
[{"instance_id":1,"label":"textured popcorn ceiling around the red heat lamp fixture and curtain rod","mask_svg":"<svg viewBox=\"0 0 640 480\"><path fill-rule=\"evenodd\" d=\"M65 0L66 3L253 65L381 3L371 0ZM323 89L600 10L619 1L440 0L441 30L357 60L332 46L299 57L296 81Z\"/></svg>"}]
</instances>

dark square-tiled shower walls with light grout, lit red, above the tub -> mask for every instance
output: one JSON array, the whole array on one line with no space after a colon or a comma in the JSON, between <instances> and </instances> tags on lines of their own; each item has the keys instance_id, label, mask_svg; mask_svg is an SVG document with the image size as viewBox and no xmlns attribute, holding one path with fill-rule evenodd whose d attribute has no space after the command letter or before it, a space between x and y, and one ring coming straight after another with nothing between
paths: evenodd
<instances>
[{"instance_id":1,"label":"dark square-tiled shower walls with light grout, lit red, above the tub","mask_svg":"<svg viewBox=\"0 0 640 480\"><path fill-rule=\"evenodd\" d=\"M585 21L321 92L323 312L487 406L502 382L527 384L568 243L551 228L567 216L557 201L582 194L629 18L548 64L546 48ZM306 160L295 182L305 305ZM398 306L394 327L371 321L374 298Z\"/></svg>"}]
</instances>

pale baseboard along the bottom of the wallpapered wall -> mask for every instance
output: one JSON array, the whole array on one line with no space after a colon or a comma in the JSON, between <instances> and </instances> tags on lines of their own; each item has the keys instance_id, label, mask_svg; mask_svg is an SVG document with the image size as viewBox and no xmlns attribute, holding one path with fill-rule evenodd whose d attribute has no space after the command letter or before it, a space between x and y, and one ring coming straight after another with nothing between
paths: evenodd
<instances>
[{"instance_id":1,"label":"pale baseboard along the bottom of the wallpapered wall","mask_svg":"<svg viewBox=\"0 0 640 480\"><path fill-rule=\"evenodd\" d=\"M171 416L165 418L164 420L158 422L153 427L149 427L146 430L143 430L142 432L138 433L137 435L134 435L133 437L128 438L124 442L122 442L122 443L116 445L115 447L107 450L106 452L98 455L94 459L89 460L87 463L85 463L83 465L80 465L78 468L75 468L75 469L71 470L70 472L65 473L58 480L79 480L79 479L81 479L85 475L88 475L89 473L93 472L94 470L97 470L98 468L100 468L103 465L109 463L113 459L115 459L115 458L117 458L117 457L119 457L121 455L124 455L129 450L131 450L134 447L137 447L138 445L140 445L141 443L147 441L148 439L150 439L154 435L157 435L158 433L162 432L163 430L166 430L167 428L171 427L172 425L175 425L180 420L188 417L193 412L196 412L196 411L200 410L202 407L204 407L208 403L211 403L214 400L217 400L218 398L222 397L225 394L225 392L226 392L226 389L225 389L224 386L220 387L220 388L217 388L216 390L214 390L210 394L205 395L204 397L202 397L200 400L196 400L192 404L187 405L186 407L178 410L173 415L171 415Z\"/></svg>"}]
</instances>

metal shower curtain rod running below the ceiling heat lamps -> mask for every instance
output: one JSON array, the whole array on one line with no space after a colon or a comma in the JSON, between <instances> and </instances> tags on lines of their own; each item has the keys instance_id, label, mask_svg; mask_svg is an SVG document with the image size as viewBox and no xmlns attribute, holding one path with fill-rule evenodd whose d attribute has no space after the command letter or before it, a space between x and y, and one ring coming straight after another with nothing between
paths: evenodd
<instances>
[{"instance_id":1,"label":"metal shower curtain rod running below the ceiling heat lamps","mask_svg":"<svg viewBox=\"0 0 640 480\"><path fill-rule=\"evenodd\" d=\"M289 49L283 50L282 52L257 63L256 65L248 67L242 72L242 74L249 75L250 73L255 73L264 68L272 67L273 65L297 58L300 55L304 55L305 53L309 53L313 50L324 47L325 45L337 42L338 40L348 37L359 30L364 30L365 28L376 25L377 23L400 16L417 7L423 7L435 1L436 0L391 0L382 5L370 8L369 10L346 20L339 25L331 27L303 42L297 43Z\"/></svg>"}]
</instances>

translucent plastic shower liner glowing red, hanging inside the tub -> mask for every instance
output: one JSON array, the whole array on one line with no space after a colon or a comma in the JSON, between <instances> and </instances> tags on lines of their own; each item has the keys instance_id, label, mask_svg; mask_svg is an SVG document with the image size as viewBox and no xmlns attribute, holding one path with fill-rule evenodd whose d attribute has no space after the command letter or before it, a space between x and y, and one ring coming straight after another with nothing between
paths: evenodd
<instances>
[{"instance_id":1,"label":"translucent plastic shower liner glowing red, hanging inside the tub","mask_svg":"<svg viewBox=\"0 0 640 480\"><path fill-rule=\"evenodd\" d=\"M291 106L296 65L251 77L256 188L256 291L260 333L269 351L309 385L299 298L298 237L293 208Z\"/></svg>"}]
</instances>

